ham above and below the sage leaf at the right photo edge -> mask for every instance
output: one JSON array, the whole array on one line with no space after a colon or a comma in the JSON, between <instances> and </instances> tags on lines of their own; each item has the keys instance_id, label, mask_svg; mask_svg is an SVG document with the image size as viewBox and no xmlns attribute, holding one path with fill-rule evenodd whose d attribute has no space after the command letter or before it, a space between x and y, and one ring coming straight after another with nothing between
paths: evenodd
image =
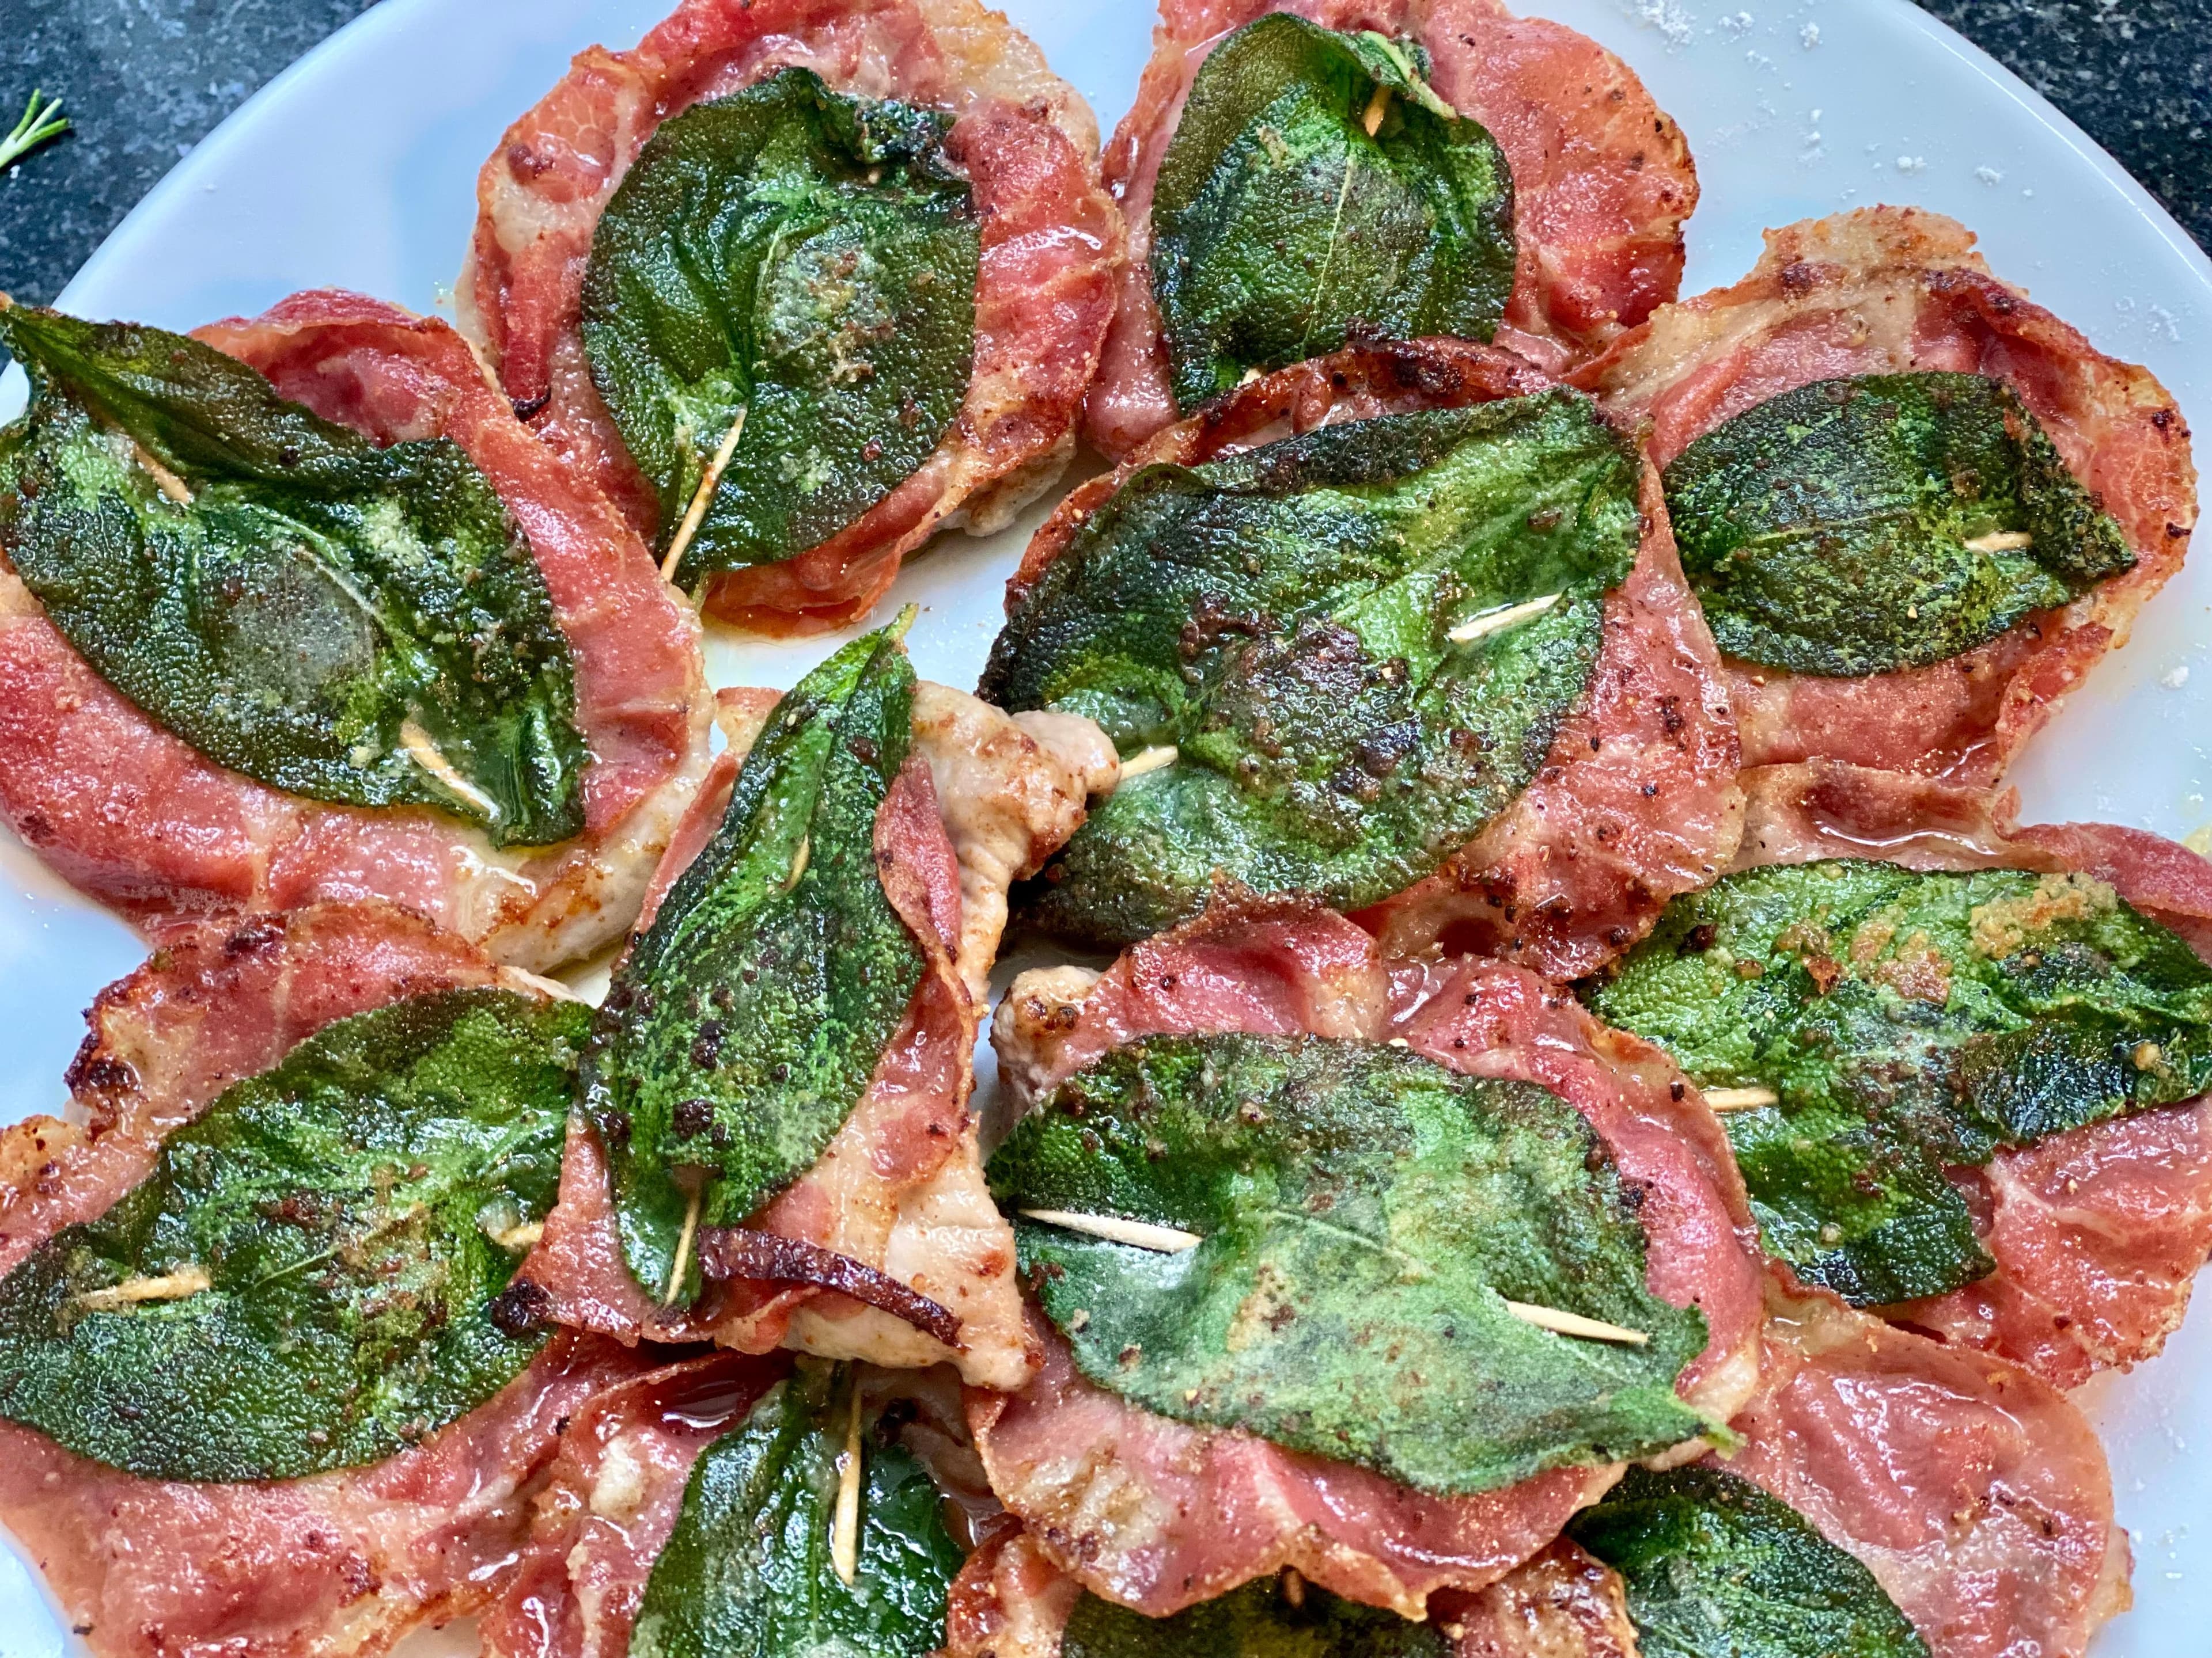
<instances>
[{"instance_id":1,"label":"ham above and below the sage leaf at the right photo edge","mask_svg":"<svg viewBox=\"0 0 2212 1658\"><path fill-rule=\"evenodd\" d=\"M1845 765L1745 774L1739 867L1887 858L2079 871L2212 959L2212 862L2112 825L2013 822L2013 796ZM2152 1357L2212 1256L2212 1101L2090 1123L1955 1169L1997 1271L1891 1315L2073 1388Z\"/></svg>"}]
</instances>

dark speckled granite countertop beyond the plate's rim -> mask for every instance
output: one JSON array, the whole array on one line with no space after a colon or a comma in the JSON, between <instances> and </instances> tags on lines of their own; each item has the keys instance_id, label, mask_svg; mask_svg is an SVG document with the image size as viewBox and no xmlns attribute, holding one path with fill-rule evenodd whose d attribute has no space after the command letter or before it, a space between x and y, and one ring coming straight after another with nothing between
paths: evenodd
<instances>
[{"instance_id":1,"label":"dark speckled granite countertop beyond the plate's rim","mask_svg":"<svg viewBox=\"0 0 2212 1658\"><path fill-rule=\"evenodd\" d=\"M179 155L372 2L0 0L0 128L33 86L84 117L31 161L38 190L0 179L0 287L53 298ZM2212 248L2212 0L1922 4L2073 115Z\"/></svg>"}]
</instances>

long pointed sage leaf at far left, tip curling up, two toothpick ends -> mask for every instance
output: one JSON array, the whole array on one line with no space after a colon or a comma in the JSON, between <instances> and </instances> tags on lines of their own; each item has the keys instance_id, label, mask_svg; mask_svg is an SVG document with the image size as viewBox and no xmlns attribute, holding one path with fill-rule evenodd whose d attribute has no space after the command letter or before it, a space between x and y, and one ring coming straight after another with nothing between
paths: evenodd
<instances>
[{"instance_id":1,"label":"long pointed sage leaf at far left, tip curling up, two toothpick ends","mask_svg":"<svg viewBox=\"0 0 2212 1658\"><path fill-rule=\"evenodd\" d=\"M153 327L0 307L0 550L148 718L312 800L584 829L568 639L458 444L378 449Z\"/></svg>"}]
</instances>

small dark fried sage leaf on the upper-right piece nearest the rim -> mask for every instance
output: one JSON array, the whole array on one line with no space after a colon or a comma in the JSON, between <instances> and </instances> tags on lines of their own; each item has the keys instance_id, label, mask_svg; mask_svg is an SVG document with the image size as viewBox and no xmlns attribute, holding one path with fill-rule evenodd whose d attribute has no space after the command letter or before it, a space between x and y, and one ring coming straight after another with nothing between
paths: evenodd
<instances>
[{"instance_id":1,"label":"small dark fried sage leaf on the upper-right piece nearest the rim","mask_svg":"<svg viewBox=\"0 0 2212 1658\"><path fill-rule=\"evenodd\" d=\"M1949 661L2135 568L2020 396L1980 374L1785 391L1690 444L1666 500L1721 650L1794 674Z\"/></svg>"}]
</instances>

